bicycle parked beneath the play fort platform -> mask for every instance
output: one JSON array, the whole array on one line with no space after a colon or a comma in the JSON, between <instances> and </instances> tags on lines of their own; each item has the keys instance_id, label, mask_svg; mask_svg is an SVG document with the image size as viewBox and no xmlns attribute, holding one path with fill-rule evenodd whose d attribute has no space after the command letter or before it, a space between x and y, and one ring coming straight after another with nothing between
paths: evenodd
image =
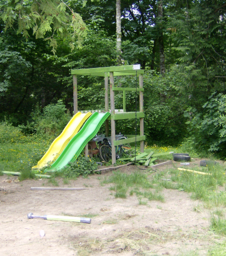
<instances>
[{"instance_id":1,"label":"bicycle parked beneath the play fort platform","mask_svg":"<svg viewBox=\"0 0 226 256\"><path fill-rule=\"evenodd\" d=\"M116 140L127 139L124 135L116 135ZM104 138L103 143L98 142L99 144L99 156L102 161L108 163L112 157L112 147L111 147L111 137ZM120 159L123 156L129 156L129 151L131 150L129 143L121 144L116 147L116 159Z\"/></svg>"}]
</instances>

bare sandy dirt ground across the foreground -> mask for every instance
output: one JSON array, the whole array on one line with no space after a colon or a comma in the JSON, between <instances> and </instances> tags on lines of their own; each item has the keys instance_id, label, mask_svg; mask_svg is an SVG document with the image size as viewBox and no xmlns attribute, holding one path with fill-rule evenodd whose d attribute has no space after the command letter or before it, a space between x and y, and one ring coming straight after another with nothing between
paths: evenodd
<instances>
[{"instance_id":1,"label":"bare sandy dirt ground across the foreground","mask_svg":"<svg viewBox=\"0 0 226 256\"><path fill-rule=\"evenodd\" d=\"M198 165L193 160L190 167ZM181 167L173 163L173 167ZM166 167L154 168L160 172ZM121 172L133 172L133 165ZM31 190L50 187L47 180L16 182L0 177L0 255L185 255L198 250L206 255L215 241L209 232L208 211L194 211L201 202L184 191L164 189L165 202L138 204L135 195L116 199L110 184L101 185L111 171L77 178L60 187L85 187L87 190ZM91 217L91 224L27 219L27 214ZM45 236L40 236L40 231Z\"/></svg>"}]
</instances>

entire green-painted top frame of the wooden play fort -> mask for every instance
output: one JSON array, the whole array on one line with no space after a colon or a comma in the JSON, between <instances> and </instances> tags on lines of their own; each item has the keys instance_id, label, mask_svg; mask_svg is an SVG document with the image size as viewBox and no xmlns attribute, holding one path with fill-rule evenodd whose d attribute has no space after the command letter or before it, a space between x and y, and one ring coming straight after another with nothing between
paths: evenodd
<instances>
[{"instance_id":1,"label":"entire green-painted top frame of the wooden play fort","mask_svg":"<svg viewBox=\"0 0 226 256\"><path fill-rule=\"evenodd\" d=\"M108 76L110 76L110 72L114 72L114 76L144 74L144 70L141 70L140 64L112 67L95 67L93 69L74 69L71 71L71 74L105 76L106 73Z\"/></svg>"}]
</instances>

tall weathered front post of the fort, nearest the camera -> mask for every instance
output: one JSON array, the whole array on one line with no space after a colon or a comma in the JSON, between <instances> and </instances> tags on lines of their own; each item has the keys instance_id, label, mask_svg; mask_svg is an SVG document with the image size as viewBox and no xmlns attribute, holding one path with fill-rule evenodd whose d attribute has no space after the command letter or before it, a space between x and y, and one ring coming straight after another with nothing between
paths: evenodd
<instances>
[{"instance_id":1,"label":"tall weathered front post of the fort, nearest the camera","mask_svg":"<svg viewBox=\"0 0 226 256\"><path fill-rule=\"evenodd\" d=\"M112 164L116 163L116 147L114 146L115 142L115 95L113 88L114 87L114 72L110 72L110 103L111 103L111 156L112 156Z\"/></svg>"}]
</instances>

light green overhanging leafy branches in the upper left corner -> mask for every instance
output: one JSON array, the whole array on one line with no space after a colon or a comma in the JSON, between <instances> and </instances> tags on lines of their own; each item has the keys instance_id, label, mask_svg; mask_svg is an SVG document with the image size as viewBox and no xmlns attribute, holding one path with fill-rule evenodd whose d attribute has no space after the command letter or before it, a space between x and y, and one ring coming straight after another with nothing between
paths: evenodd
<instances>
[{"instance_id":1,"label":"light green overhanging leafy branches in the upper left corner","mask_svg":"<svg viewBox=\"0 0 226 256\"><path fill-rule=\"evenodd\" d=\"M36 39L50 41L52 52L56 53L56 37L68 37L71 49L75 41L81 44L86 34L86 25L79 14L73 11L71 1L3 1L0 18L5 22L5 31L16 27L16 32L28 38L33 30Z\"/></svg>"}]
</instances>

